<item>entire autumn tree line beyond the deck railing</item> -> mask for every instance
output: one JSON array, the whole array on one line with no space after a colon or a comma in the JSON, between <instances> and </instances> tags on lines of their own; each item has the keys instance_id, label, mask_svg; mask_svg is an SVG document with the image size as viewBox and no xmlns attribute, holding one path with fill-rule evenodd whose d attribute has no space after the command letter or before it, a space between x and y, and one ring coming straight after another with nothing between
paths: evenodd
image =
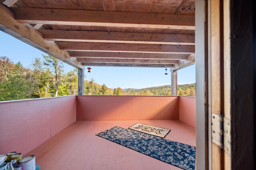
<instances>
[{"instance_id":1,"label":"entire autumn tree line beyond the deck railing","mask_svg":"<svg viewBox=\"0 0 256 170\"><path fill-rule=\"evenodd\" d=\"M64 73L63 62L50 55L43 55L43 61L35 58L29 68L0 57L0 101L77 94L78 70ZM84 95L170 95L170 86L123 91L99 85L92 78L84 81ZM195 85L178 85L178 95L195 95Z\"/></svg>"}]
</instances>

